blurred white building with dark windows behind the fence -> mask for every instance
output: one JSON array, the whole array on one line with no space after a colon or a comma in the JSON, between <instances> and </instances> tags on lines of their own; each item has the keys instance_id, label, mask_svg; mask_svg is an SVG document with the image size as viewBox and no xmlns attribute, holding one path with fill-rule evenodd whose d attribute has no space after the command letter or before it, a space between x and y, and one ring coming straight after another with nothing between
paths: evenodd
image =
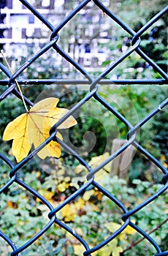
<instances>
[{"instance_id":1,"label":"blurred white building with dark windows behind the fence","mask_svg":"<svg viewBox=\"0 0 168 256\"><path fill-rule=\"evenodd\" d=\"M53 26L57 26L69 14L79 1L69 0L30 0ZM108 7L110 0L104 0ZM42 48L50 40L50 29L47 28L19 0L1 1L0 47L7 56L26 56L28 48ZM72 56L85 69L94 71L104 61L108 61L109 52L104 48L112 38L108 17L99 8L93 11L93 2L87 4L76 15L74 22L69 22L60 31L61 48ZM62 40L62 41L61 41ZM64 42L64 43L63 43ZM57 59L69 70L69 63ZM63 63L64 62L64 63Z\"/></svg>"}]
</instances>

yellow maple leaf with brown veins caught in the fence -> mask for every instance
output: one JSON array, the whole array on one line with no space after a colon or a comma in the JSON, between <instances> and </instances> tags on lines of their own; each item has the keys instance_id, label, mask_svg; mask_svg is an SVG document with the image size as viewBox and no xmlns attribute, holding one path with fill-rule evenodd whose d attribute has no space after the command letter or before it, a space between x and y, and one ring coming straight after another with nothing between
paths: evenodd
<instances>
[{"instance_id":1,"label":"yellow maple leaf with brown veins caught in the fence","mask_svg":"<svg viewBox=\"0 0 168 256\"><path fill-rule=\"evenodd\" d=\"M58 99L47 98L37 102L27 113L23 113L15 120L7 124L4 130L3 140L13 140L12 154L20 162L27 157L32 144L37 148L49 136L50 128L61 119L69 110L65 108L56 108ZM77 124L72 116L66 119L58 129L66 129ZM62 140L62 136L57 132L56 136ZM60 157L61 146L51 140L41 151L38 156L41 159L45 157Z\"/></svg>"}]
</instances>

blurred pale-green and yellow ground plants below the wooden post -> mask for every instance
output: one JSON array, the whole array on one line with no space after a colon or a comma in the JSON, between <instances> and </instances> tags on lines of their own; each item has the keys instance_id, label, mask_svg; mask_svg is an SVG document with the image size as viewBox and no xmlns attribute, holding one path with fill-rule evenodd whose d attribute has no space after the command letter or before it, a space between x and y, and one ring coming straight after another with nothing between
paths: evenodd
<instances>
[{"instance_id":1,"label":"blurred pale-green and yellow ground plants below the wooden post","mask_svg":"<svg viewBox=\"0 0 168 256\"><path fill-rule=\"evenodd\" d=\"M91 160L92 167L97 165L97 162L102 160L102 157L93 158ZM100 160L99 160L100 159ZM58 173L64 176L65 168L59 161L57 163ZM76 171L79 173L79 168ZM84 170L83 170L84 171ZM53 170L55 172L55 169ZM84 171L85 173L85 171ZM84 175L83 173L83 175ZM54 207L58 206L64 201L66 197L72 194L81 185L83 175L72 178L66 176L62 179L61 176L47 175L42 171L31 171L29 173L19 173L19 178L26 182L34 189L42 194ZM7 179L7 168L2 173L1 185ZM110 177L109 167L102 170L96 175L95 180L99 182L105 189L117 197L129 209L134 208L150 195L157 192L161 188L161 184L153 184L151 186L148 181L140 181L135 179L133 181L134 188L128 187L126 181L119 179L117 176ZM39 199L26 192L18 184L12 184L9 189L2 195L1 200L1 230L7 234L12 241L18 246L21 246L35 233L37 233L47 222L48 208L40 202ZM167 219L167 195L161 195L158 200L155 200L150 205L142 208L137 214L131 217L131 221L142 229L150 230L150 234L158 244L165 244L167 237L167 223L156 228L161 222ZM12 209L12 211L11 211ZM102 195L97 189L89 187L83 195L80 195L73 200L69 205L65 206L58 212L57 218L66 225L72 227L73 230L82 236L88 244L92 247L97 243L103 241L110 236L112 232L121 227L122 211L116 207L115 203ZM156 228L156 229L155 229ZM154 230L155 229L155 230ZM134 235L134 236L132 236ZM147 241L141 241L137 246L129 248L130 244L134 244L140 236L131 227L127 227L114 241L107 246L100 249L93 255L153 255L155 249L149 246ZM9 247L7 246L9 251ZM166 248L163 248L166 249ZM1 246L1 255L7 252L6 246ZM36 255L36 253L43 255L82 255L83 246L78 244L78 241L73 236L66 233L58 225L50 227L44 236L39 238L32 246L23 252L23 255Z\"/></svg>"}]
</instances>

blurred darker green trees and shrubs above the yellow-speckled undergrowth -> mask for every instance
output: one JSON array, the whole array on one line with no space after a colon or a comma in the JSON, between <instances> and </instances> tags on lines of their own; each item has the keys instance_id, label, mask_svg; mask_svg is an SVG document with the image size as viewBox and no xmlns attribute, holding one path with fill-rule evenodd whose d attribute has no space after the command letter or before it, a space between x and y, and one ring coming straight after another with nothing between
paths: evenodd
<instances>
[{"instance_id":1,"label":"blurred darker green trees and shrubs above the yellow-speckled undergrowth","mask_svg":"<svg viewBox=\"0 0 168 256\"><path fill-rule=\"evenodd\" d=\"M66 7L69 10L72 7L75 7L76 2L72 1L71 3L66 3ZM144 8L144 7L150 8ZM129 26L137 31L140 29L150 18L153 17L159 10L166 6L166 1L162 0L159 3L154 0L153 4L149 4L149 1L110 1L110 10L115 12L116 15L119 16L125 23L129 23ZM89 10L89 7L85 7ZM150 12L149 12L150 10ZM94 15L94 13L91 15ZM129 15L127 15L129 12ZM137 13L139 15L137 15ZM74 22L74 19L69 23L68 29L67 26L64 27L63 32L61 33L61 45L66 45L65 42L67 38L72 37L72 33L74 34L77 31L76 26L80 23L80 14L75 16L77 19ZM104 19L107 18L104 16ZM102 20L104 20L102 19ZM102 21L104 22L104 21ZM95 24L96 28L97 25ZM88 27L88 23L83 24L84 27ZM105 26L104 26L105 27ZM111 27L111 26L110 26ZM167 52L167 19L165 15L159 19L156 23L153 24L145 34L142 35L141 39L141 47L142 50L145 50L145 53L150 56L156 63L161 61L161 68L167 71L167 67L165 66L165 61L167 61L167 56L165 53ZM100 31L99 28L96 29L96 32ZM111 33L111 32L110 32ZM67 34L69 35L67 37ZM123 29L119 29L118 25L112 23L112 34L116 34L117 37L112 37L110 39L109 45L102 45L102 47L110 50L110 54L112 55L110 58L111 61L117 59L124 52L124 49L128 49L130 46L130 35L123 31ZM83 37L84 34L81 35ZM93 37L97 37L95 34ZM78 42L78 35L75 34L75 42L74 45ZM99 47L99 45L98 45ZM123 48L122 48L123 47ZM37 48L28 48L28 57L34 55L37 52ZM25 55L25 54L24 54ZM19 78L31 79L31 78L60 78L62 77L62 67L58 67L57 59L58 55L54 52L53 49L47 51L47 53L43 54L39 59L34 61L30 67L24 70ZM20 57L20 59L15 59L15 56L11 56L9 62L15 63L15 69L20 67L20 64L27 59L27 56ZM110 61L110 62L111 62ZM108 65L110 63L105 63L104 65ZM159 63L158 63L159 64ZM70 74L70 78L74 78L75 74ZM75 75L77 76L77 74ZM107 75L107 78L160 78L160 75L155 72L145 61L137 53L132 53L125 61L123 61L118 67L115 67L114 71L110 72ZM109 87L109 88L108 88ZM105 99L108 99L108 102L112 106L114 106L123 116L129 119L131 124L136 124L141 118L143 118L146 114L152 110L153 105L156 106L156 102L158 104L164 100L164 95L167 94L167 89L163 87L156 86L126 86L126 88L121 88L118 86L102 86L102 92ZM49 97L58 97L60 99L59 107L60 108L69 108L69 106L79 102L80 99L83 98L87 90L81 90L81 86L57 86L53 84L52 86L23 86L23 94L34 100L42 94L43 91L49 94ZM150 90L151 89L151 90ZM150 94L148 91L150 90ZM46 92L47 91L47 92ZM49 93L50 91L50 93ZM43 98L45 94L43 94ZM124 95L124 96L123 96ZM160 99L159 99L160 97ZM6 99L6 102L7 99ZM7 106L4 106L4 102L0 103L4 109L7 108L9 104L9 108L13 108L13 102L7 103ZM12 105L12 106L11 106ZM15 107L14 107L15 108ZM20 105L17 105L16 113L22 113L20 110ZM1 120L1 129L4 130L7 125L7 118L10 115L10 111L7 110L7 116L3 116ZM15 109L12 109L12 112L15 112ZM15 115L14 115L15 116ZM73 141L74 149L80 152L80 154L85 158L96 156L103 154L104 151L111 151L112 148L112 140L114 138L126 138L126 133L128 129L125 127L121 121L118 121L117 118L112 116L106 109L99 105L94 99L91 99L87 102L83 108L80 109L80 113L76 113L77 118L77 126L73 129L69 129L69 139L70 142ZM3 120L5 119L5 120ZM13 117L10 118L9 121L12 121ZM148 122L141 129L140 135L140 143L142 146L148 149L155 157L159 159L161 154L164 154L167 158L166 146L167 140L165 138L164 130L166 130L167 125L167 116L166 113L161 111L158 115L156 115L153 119L153 124ZM164 124L164 125L163 125ZM165 129L164 129L165 128ZM80 132L78 132L80 129ZM148 129L148 133L144 132L144 129ZM2 132L1 131L1 132ZM90 132L90 134L88 133ZM92 147L89 146L91 143L91 135L95 140L92 142ZM139 140L139 138L138 138ZM151 143L152 141L152 143ZM72 144L71 144L72 146ZM89 154L88 154L89 153ZM66 158L66 161L72 161L70 157L63 151L62 156ZM167 161L167 160L166 160Z\"/></svg>"}]
</instances>

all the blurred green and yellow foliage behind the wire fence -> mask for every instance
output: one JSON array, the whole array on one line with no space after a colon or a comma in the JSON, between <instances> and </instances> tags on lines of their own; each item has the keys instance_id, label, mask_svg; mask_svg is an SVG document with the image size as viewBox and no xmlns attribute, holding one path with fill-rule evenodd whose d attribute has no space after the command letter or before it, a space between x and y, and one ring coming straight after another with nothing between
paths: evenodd
<instances>
[{"instance_id":1,"label":"all the blurred green and yellow foliage behind the wire fence","mask_svg":"<svg viewBox=\"0 0 168 256\"><path fill-rule=\"evenodd\" d=\"M110 1L110 8L116 14L120 13L120 18L134 31L139 30L145 23L153 17L166 4L166 1L154 0L150 1L129 0L129 1ZM149 12L150 10L150 12ZM128 15L129 12L129 15ZM79 20L80 16L77 18ZM72 20L72 27L77 28L77 23ZM86 24L88 26L88 23ZM105 26L104 26L105 27ZM164 17L157 23L153 24L145 34L142 35L140 47L150 56L153 61L156 61L159 66L167 71L167 20ZM99 31L97 29L96 33ZM73 29L64 29L65 33L61 34L61 44L66 42L66 38L72 36ZM69 37L67 37L67 34ZM105 47L110 49L110 61L104 62L103 67L107 67L112 61L115 61L124 50L130 47L130 35L118 29L118 26L112 23L112 34L117 34L117 37L112 37L110 42ZM77 34L75 34L77 42ZM94 37L96 34L94 35ZM65 37L65 41L64 41ZM98 45L104 48L103 44ZM36 49L37 51L38 49ZM28 56L34 53L28 53ZM62 67L56 64L56 56L53 50L47 53L31 64L19 78L61 78L63 75ZM26 57L18 60L11 56L11 62L15 62L15 69L20 67ZM73 75L71 74L71 78ZM99 75L99 74L96 74ZM19 79L18 78L18 79ZM74 78L74 76L73 76ZM108 78L161 78L161 76L153 70L148 63L143 61L137 53L132 53L125 61L123 61L114 71L107 75ZM3 77L4 79L4 77ZM5 87L5 89L7 89ZM23 94L34 102L38 97L44 99L45 96L58 97L60 99L58 108L70 108L73 104L83 99L87 89L81 89L81 86L23 86ZM0 88L4 91L4 88ZM131 124L135 125L153 108L157 107L165 99L167 87L165 86L100 86L99 94L125 116ZM23 113L23 105L20 104L20 99L9 95L6 99L0 102L0 108L3 110L3 115L0 119L0 134L2 135L5 127L15 117ZM80 111L76 113L77 125L69 129L69 135L65 133L65 141L67 137L68 143L73 143L77 153L83 156L84 159L90 160L89 164L95 167L99 164L99 156L104 152L111 152L112 140L114 138L126 138L128 128L118 118L115 118L108 110L91 99L85 102ZM159 159L165 167L168 164L167 155L167 113L166 110L161 110L147 124L145 124L140 133L137 134L137 140L144 146L154 157ZM80 132L79 132L80 131ZM87 132L90 131L90 134ZM64 135L64 132L63 132ZM88 136L87 136L88 135ZM64 136L63 136L64 137ZM93 141L91 138L95 138ZM90 147L90 145L92 147ZM70 144L72 146L72 144ZM11 154L11 143L1 141L2 153L7 155L12 162L15 162ZM101 157L105 159L107 155ZM63 161L64 159L64 161ZM1 161L1 179L0 184L6 184L9 178L9 167ZM52 163L52 165L51 165ZM40 168L41 167L41 168ZM45 172L43 171L45 170ZM161 173L156 170L156 167L148 162L138 152L134 157L129 172L130 186L126 181L119 179L117 176L111 177L109 168L102 170L96 176L96 181L102 184L108 191L117 197L127 208L131 209L137 204L142 203L142 200L147 199L150 195L157 192L161 188ZM30 175L31 174L31 175ZM23 170L19 171L19 178L26 182L34 189L37 189L44 197L53 204L58 206L66 197L72 195L81 184L85 181L85 168L81 167L73 156L69 156L62 150L61 159L47 159L40 165L36 161L28 163ZM77 177L76 177L77 176ZM65 178L66 177L66 178ZM0 186L0 187L1 187ZM134 217L133 222L151 236L161 245L161 249L167 249L167 223L158 227L159 223L167 219L167 195L161 195L150 205L142 208ZM47 222L48 209L34 196L22 189L18 184L12 184L9 189L1 195L0 208L0 225L1 230L7 234L12 241L21 246L34 233L44 227ZM89 187L83 195L79 196L64 207L58 214L58 219L72 227L75 232L86 239L92 247L110 236L112 230L116 230L122 225L121 210L116 207L115 203L108 200L101 192ZM158 227L158 228L157 228ZM140 235L133 233L134 230L127 227L120 236L111 241L110 244L100 249L99 252L93 255L132 255L132 256L150 256L156 253L148 242L140 241L136 246L134 243L140 239ZM132 247L129 249L130 244ZM0 254L9 255L11 249L3 242L0 248ZM42 238L31 245L23 255L45 255L46 256L64 256L64 255L82 255L83 246L80 246L78 241L69 236L57 225L50 227Z\"/></svg>"}]
</instances>

